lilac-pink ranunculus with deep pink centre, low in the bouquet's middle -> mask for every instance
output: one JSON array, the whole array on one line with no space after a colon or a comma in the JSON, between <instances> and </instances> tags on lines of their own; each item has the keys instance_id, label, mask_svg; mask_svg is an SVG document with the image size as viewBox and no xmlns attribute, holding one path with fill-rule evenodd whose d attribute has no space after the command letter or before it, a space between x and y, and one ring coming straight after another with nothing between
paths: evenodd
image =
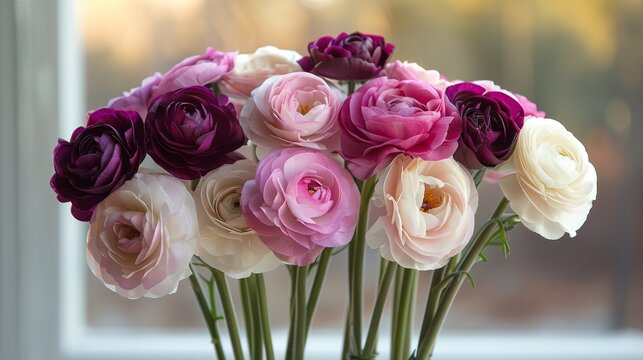
<instances>
[{"instance_id":1,"label":"lilac-pink ranunculus with deep pink centre, low in the bouquet's middle","mask_svg":"<svg viewBox=\"0 0 643 360\"><path fill-rule=\"evenodd\" d=\"M339 162L320 151L286 148L259 162L241 207L259 239L281 260L307 265L326 247L351 241L359 190Z\"/></svg>"}]
</instances>

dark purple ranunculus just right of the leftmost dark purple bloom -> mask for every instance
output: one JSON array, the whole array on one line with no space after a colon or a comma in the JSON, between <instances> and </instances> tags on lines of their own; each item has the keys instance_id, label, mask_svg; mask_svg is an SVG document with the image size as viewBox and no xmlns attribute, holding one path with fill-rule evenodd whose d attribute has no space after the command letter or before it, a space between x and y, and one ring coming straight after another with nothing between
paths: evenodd
<instances>
[{"instance_id":1,"label":"dark purple ranunculus just right of the leftmost dark purple bloom","mask_svg":"<svg viewBox=\"0 0 643 360\"><path fill-rule=\"evenodd\" d=\"M184 180L240 158L246 143L234 106L225 95L191 86L158 97L145 118L147 152L163 169Z\"/></svg>"}]
</instances>

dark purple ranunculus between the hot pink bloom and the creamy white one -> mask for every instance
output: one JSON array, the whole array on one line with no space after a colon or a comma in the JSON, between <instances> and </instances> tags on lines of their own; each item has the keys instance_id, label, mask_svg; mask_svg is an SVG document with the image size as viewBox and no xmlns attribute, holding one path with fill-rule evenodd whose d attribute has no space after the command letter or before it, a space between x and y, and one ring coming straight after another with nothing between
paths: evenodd
<instances>
[{"instance_id":1,"label":"dark purple ranunculus between the hot pink bloom and the creamy white one","mask_svg":"<svg viewBox=\"0 0 643 360\"><path fill-rule=\"evenodd\" d=\"M446 95L462 117L456 160L471 169L507 160L524 122L520 103L504 92L468 82L449 86Z\"/></svg>"}]
</instances>

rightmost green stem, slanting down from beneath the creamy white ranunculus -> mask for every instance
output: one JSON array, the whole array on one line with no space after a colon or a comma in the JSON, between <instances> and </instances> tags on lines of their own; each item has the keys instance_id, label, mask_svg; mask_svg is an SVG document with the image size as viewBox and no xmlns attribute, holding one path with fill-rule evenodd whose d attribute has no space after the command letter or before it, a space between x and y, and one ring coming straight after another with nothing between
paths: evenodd
<instances>
[{"instance_id":1,"label":"rightmost green stem, slanting down from beneath the creamy white ranunculus","mask_svg":"<svg viewBox=\"0 0 643 360\"><path fill-rule=\"evenodd\" d=\"M498 206L496 207L496 210L493 212L493 215L491 215L491 219L499 219L507 209L508 205L509 205L509 200L503 197L500 203L498 204ZM487 245L487 241L489 240L489 237L494 233L496 226L498 226L498 224L495 222L487 223L487 226L482 230L480 235L475 239L473 246L471 247L467 255L464 257L464 260L462 260L462 263L458 268L459 272L471 271L471 268L473 267L473 265L475 265L476 261L478 260L478 257L480 256L480 253ZM433 353L433 349L435 348L435 341L438 337L438 333L440 332L440 328L442 327L442 324L444 323L444 319L446 319L447 313L449 312L449 309L453 304L453 300L455 299L455 296L458 294L458 290L460 290L460 286L462 286L462 283L464 282L464 280L465 280L464 275L458 275L453 280L451 280L449 286L447 287L444 293L442 301L438 306L438 309L435 313L435 317L433 318L433 321L429 326L429 329L426 333L426 337L425 339L422 339L424 341L421 342L420 348L418 349L418 355L417 355L418 360L428 360L431 357L431 354Z\"/></svg>"}]
</instances>

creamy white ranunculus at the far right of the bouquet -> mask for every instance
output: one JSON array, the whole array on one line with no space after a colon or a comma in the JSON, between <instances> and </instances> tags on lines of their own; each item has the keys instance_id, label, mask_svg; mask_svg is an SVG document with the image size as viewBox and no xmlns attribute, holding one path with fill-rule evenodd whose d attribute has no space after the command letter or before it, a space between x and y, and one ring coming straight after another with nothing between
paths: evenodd
<instances>
[{"instance_id":1,"label":"creamy white ranunculus at the far right of the bouquet","mask_svg":"<svg viewBox=\"0 0 643 360\"><path fill-rule=\"evenodd\" d=\"M531 231L547 239L576 236L596 199L596 170L583 144L556 120L529 118L500 188Z\"/></svg>"}]
</instances>

